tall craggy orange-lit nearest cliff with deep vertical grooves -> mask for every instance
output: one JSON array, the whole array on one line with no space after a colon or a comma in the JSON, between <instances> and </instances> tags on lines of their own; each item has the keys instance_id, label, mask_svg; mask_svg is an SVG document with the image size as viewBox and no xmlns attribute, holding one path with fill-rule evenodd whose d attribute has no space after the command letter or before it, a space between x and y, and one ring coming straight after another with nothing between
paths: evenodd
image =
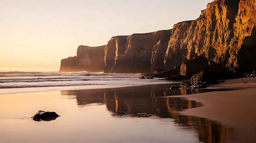
<instances>
[{"instance_id":1,"label":"tall craggy orange-lit nearest cliff with deep vertical grooves","mask_svg":"<svg viewBox=\"0 0 256 143\"><path fill-rule=\"evenodd\" d=\"M203 55L232 71L252 71L255 63L256 0L215 0L194 21L178 23L164 57L171 69Z\"/></svg>"}]
</instances>

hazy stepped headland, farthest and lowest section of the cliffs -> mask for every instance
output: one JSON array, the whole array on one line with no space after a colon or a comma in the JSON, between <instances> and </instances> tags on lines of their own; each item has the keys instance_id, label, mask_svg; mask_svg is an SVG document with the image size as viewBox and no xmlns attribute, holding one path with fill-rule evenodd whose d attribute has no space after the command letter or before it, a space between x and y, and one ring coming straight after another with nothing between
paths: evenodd
<instances>
[{"instance_id":1,"label":"hazy stepped headland, farthest and lowest section of the cliffs","mask_svg":"<svg viewBox=\"0 0 256 143\"><path fill-rule=\"evenodd\" d=\"M79 46L75 57L61 60L60 72L102 72L105 46Z\"/></svg>"}]
</instances>

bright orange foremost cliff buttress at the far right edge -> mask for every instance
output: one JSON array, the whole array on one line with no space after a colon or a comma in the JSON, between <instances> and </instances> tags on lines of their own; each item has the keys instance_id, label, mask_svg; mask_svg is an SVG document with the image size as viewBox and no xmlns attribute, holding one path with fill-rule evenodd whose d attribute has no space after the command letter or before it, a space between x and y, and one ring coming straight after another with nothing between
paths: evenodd
<instances>
[{"instance_id":1,"label":"bright orange foremost cliff buttress at the far right edge","mask_svg":"<svg viewBox=\"0 0 256 143\"><path fill-rule=\"evenodd\" d=\"M230 43L230 69L250 72L256 70L256 0L241 0Z\"/></svg>"}]
</instances>

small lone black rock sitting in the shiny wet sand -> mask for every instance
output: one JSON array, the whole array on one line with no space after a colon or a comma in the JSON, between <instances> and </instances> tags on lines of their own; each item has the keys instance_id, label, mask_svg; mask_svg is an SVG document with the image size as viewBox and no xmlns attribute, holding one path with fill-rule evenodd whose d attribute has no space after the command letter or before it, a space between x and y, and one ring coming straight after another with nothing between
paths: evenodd
<instances>
[{"instance_id":1,"label":"small lone black rock sitting in the shiny wet sand","mask_svg":"<svg viewBox=\"0 0 256 143\"><path fill-rule=\"evenodd\" d=\"M58 115L56 112L47 112L39 110L32 118L35 121L50 121L55 120L59 116L60 115Z\"/></svg>"}]
</instances>

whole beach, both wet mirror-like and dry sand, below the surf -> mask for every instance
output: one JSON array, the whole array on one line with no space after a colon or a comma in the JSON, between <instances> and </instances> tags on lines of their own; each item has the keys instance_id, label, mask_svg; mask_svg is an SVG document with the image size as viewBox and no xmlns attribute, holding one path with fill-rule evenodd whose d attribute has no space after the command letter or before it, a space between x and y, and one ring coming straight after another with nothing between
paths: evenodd
<instances>
[{"instance_id":1,"label":"whole beach, both wet mirror-like and dry sand, below the surf","mask_svg":"<svg viewBox=\"0 0 256 143\"><path fill-rule=\"evenodd\" d=\"M0 94L0 142L255 143L255 78L172 85ZM34 121L38 110L61 116Z\"/></svg>"}]
</instances>

